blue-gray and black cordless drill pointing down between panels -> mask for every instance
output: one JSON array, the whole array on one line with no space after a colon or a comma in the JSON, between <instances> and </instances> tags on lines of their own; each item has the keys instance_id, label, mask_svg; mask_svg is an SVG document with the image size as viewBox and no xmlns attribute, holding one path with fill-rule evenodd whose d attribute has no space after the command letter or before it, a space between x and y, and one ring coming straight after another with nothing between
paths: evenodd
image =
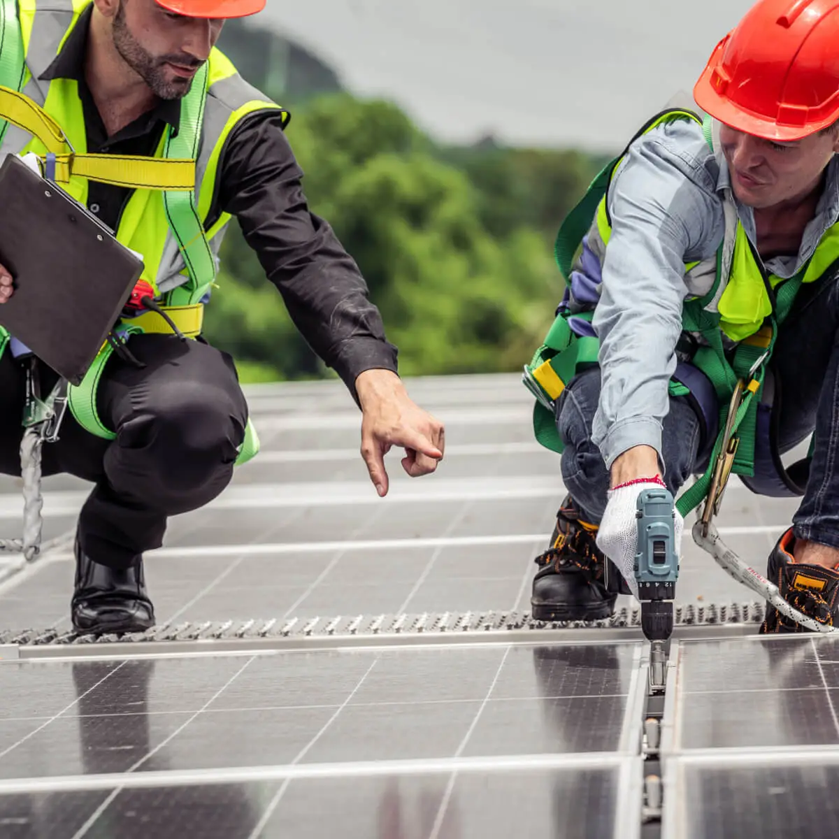
<instances>
[{"instance_id":1,"label":"blue-gray and black cordless drill pointing down between panels","mask_svg":"<svg viewBox=\"0 0 839 839\"><path fill-rule=\"evenodd\" d=\"M641 629L651 644L654 686L664 683L664 643L673 633L673 600L679 578L675 506L664 487L638 494L638 552L633 571L641 602Z\"/></svg>"}]
</instances>

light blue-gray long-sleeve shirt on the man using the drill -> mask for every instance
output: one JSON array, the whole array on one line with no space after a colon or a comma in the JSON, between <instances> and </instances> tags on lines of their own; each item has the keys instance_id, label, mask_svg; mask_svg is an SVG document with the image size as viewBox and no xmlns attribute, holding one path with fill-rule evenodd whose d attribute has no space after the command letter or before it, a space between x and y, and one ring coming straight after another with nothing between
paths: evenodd
<instances>
[{"instance_id":1,"label":"light blue-gray long-sleeve shirt on the man using the drill","mask_svg":"<svg viewBox=\"0 0 839 839\"><path fill-rule=\"evenodd\" d=\"M769 260L771 273L793 276L836 223L837 168L834 157L797 258ZM612 179L607 195L612 234L592 320L601 341L602 367L592 440L609 468L633 446L652 446L661 458L661 423L669 406L668 383L688 294L685 263L711 257L720 246L730 183L727 165L717 162L701 126L685 120L665 123L638 138ZM735 203L743 229L755 243L753 212Z\"/></svg>"}]
</instances>

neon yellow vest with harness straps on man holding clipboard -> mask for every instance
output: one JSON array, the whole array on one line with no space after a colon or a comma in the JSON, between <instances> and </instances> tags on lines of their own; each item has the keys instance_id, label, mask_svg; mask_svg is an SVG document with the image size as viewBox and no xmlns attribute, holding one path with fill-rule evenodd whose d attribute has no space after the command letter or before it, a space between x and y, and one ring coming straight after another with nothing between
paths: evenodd
<instances>
[{"instance_id":1,"label":"neon yellow vest with harness straps on man holding clipboard","mask_svg":"<svg viewBox=\"0 0 839 839\"><path fill-rule=\"evenodd\" d=\"M128 186L133 194L116 237L142 254L142 278L186 336L201 333L203 306L216 279L218 253L231 221L227 213L206 227L218 186L218 165L233 128L249 114L289 113L239 76L214 49L181 101L180 129L167 126L153 158L87 154L86 127L77 83L39 79L65 43L91 0L0 0L0 155L39 156L42 170L55 166L55 180L86 204L90 180ZM3 122L5 120L6 122ZM50 157L50 155L54 155ZM169 332L155 312L122 321L122 334ZM0 352L8 335L0 335ZM96 414L96 383L111 347L106 345L79 387L68 388L70 409L91 433L113 438ZM239 462L258 451L253 426Z\"/></svg>"}]
</instances>

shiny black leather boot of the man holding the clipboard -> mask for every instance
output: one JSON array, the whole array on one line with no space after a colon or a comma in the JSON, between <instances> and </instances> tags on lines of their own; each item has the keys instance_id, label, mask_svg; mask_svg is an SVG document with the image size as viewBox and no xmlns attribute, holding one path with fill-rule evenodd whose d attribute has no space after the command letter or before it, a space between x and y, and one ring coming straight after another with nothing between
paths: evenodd
<instances>
[{"instance_id":1,"label":"shiny black leather boot of the man holding the clipboard","mask_svg":"<svg viewBox=\"0 0 839 839\"><path fill-rule=\"evenodd\" d=\"M146 592L143 557L127 569L94 562L76 536L76 585L70 602L78 633L144 632L154 626L154 607Z\"/></svg>"}]
</instances>

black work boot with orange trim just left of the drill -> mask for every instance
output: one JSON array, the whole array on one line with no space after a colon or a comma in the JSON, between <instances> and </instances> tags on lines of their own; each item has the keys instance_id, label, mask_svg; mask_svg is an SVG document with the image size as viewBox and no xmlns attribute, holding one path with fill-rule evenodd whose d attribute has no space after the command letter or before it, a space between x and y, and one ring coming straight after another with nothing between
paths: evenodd
<instances>
[{"instance_id":1,"label":"black work boot with orange trim just left of the drill","mask_svg":"<svg viewBox=\"0 0 839 839\"><path fill-rule=\"evenodd\" d=\"M597 525L584 522L569 495L556 513L550 547L539 565L530 606L538 621L612 617L618 594L631 594L620 571L597 548Z\"/></svg>"}]
</instances>

